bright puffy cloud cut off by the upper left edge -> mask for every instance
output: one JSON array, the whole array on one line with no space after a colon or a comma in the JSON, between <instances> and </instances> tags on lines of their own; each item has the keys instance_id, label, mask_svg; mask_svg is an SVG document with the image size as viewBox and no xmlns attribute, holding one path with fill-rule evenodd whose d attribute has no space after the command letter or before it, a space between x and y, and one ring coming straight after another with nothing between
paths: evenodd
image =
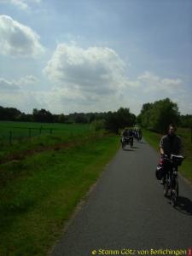
<instances>
[{"instance_id":1,"label":"bright puffy cloud cut off by the upper left edge","mask_svg":"<svg viewBox=\"0 0 192 256\"><path fill-rule=\"evenodd\" d=\"M0 15L0 53L3 55L35 57L44 52L39 36L28 26L7 15Z\"/></svg>"}]
</instances>

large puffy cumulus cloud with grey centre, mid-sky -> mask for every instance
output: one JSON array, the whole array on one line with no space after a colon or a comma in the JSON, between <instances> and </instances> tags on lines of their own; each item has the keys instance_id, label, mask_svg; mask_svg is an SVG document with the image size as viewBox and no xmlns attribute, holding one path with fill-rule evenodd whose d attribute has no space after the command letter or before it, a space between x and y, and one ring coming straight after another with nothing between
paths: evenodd
<instances>
[{"instance_id":1,"label":"large puffy cumulus cloud with grey centre, mid-sky","mask_svg":"<svg viewBox=\"0 0 192 256\"><path fill-rule=\"evenodd\" d=\"M125 86L125 63L113 49L58 44L44 74L67 94L100 96Z\"/></svg>"}]
</instances>

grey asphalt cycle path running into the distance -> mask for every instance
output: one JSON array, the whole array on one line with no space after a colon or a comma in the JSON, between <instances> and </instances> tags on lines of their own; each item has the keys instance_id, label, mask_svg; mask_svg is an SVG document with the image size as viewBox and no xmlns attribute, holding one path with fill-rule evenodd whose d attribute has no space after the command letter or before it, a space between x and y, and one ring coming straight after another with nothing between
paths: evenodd
<instances>
[{"instance_id":1,"label":"grey asphalt cycle path running into the distance","mask_svg":"<svg viewBox=\"0 0 192 256\"><path fill-rule=\"evenodd\" d=\"M125 149L106 166L52 256L152 255L155 249L162 255L160 249L192 247L191 185L178 178L173 208L154 177L159 154L145 142Z\"/></svg>"}]
</instances>

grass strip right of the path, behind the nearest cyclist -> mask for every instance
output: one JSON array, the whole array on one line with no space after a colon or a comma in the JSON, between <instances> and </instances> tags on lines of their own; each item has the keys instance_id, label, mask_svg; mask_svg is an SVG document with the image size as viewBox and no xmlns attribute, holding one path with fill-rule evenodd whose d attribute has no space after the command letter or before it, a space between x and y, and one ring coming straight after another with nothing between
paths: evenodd
<instances>
[{"instance_id":1,"label":"grass strip right of the path, behind the nearest cyclist","mask_svg":"<svg viewBox=\"0 0 192 256\"><path fill-rule=\"evenodd\" d=\"M179 172L192 183L192 143L190 138L190 130L178 128L177 135L181 137L183 143L183 160L182 166L179 166ZM153 131L143 130L143 137L157 151L160 150L160 138L162 135Z\"/></svg>"}]
</instances>

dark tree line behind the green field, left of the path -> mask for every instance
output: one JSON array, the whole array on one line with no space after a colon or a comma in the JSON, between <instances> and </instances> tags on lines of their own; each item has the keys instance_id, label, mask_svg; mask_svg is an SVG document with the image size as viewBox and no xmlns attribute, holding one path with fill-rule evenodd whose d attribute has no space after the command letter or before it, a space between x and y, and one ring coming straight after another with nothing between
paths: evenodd
<instances>
[{"instance_id":1,"label":"dark tree line behind the green field, left of the path","mask_svg":"<svg viewBox=\"0 0 192 256\"><path fill-rule=\"evenodd\" d=\"M17 108L0 107L0 120L64 123L64 124L92 124L96 130L107 129L118 133L120 128L132 126L136 123L136 115L129 108L119 108L115 112L102 113L70 113L52 114L46 109L33 108L32 114L21 113Z\"/></svg>"}]
</instances>

